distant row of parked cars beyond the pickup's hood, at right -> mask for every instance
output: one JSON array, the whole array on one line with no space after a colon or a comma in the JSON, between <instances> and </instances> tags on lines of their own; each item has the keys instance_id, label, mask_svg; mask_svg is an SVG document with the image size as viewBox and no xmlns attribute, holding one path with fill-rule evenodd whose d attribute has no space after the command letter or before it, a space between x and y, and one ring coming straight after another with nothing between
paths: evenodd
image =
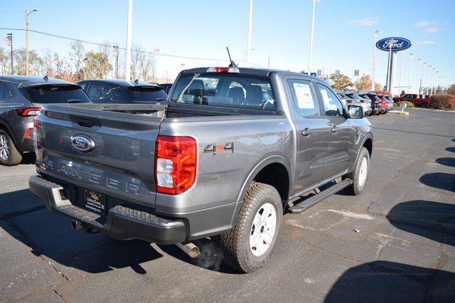
<instances>
[{"instance_id":1,"label":"distant row of parked cars beyond the pickup's hood, at right","mask_svg":"<svg viewBox=\"0 0 455 303\"><path fill-rule=\"evenodd\" d=\"M389 95L375 92L336 92L345 105L358 105L363 108L365 116L381 115L393 108L393 100Z\"/></svg>"}]
</instances>

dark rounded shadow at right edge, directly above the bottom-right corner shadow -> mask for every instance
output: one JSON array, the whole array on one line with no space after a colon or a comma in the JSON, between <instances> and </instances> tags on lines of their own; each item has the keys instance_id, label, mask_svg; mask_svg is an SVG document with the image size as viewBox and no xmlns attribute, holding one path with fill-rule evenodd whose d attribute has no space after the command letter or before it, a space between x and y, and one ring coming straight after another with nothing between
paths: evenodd
<instances>
[{"instance_id":1,"label":"dark rounded shadow at right edge, directly above the bottom-right corner shadow","mask_svg":"<svg viewBox=\"0 0 455 303\"><path fill-rule=\"evenodd\" d=\"M455 204L414 200L398 203L386 216L395 228L455 246Z\"/></svg>"}]
</instances>

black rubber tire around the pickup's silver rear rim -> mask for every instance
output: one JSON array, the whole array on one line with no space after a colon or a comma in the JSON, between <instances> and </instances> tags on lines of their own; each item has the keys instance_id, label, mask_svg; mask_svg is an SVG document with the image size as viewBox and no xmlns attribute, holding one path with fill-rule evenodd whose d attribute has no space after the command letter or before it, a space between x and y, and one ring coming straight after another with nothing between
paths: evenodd
<instances>
[{"instance_id":1,"label":"black rubber tire around the pickup's silver rear rim","mask_svg":"<svg viewBox=\"0 0 455 303\"><path fill-rule=\"evenodd\" d=\"M271 244L262 255L255 256L250 248L250 235L256 214L262 206L270 203L276 213L276 225ZM260 213L260 212L259 212ZM268 184L252 182L243 198L237 222L228 232L220 235L221 247L226 264L242 272L253 272L262 267L277 247L283 225L283 204L277 189ZM262 233L262 230L260 232Z\"/></svg>"}]
</instances>

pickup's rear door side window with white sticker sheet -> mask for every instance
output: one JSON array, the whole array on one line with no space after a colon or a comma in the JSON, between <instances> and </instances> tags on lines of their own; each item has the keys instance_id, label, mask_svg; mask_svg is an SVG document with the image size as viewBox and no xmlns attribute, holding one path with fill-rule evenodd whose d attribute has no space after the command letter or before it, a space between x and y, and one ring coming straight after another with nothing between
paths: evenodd
<instances>
[{"instance_id":1,"label":"pickup's rear door side window with white sticker sheet","mask_svg":"<svg viewBox=\"0 0 455 303\"><path fill-rule=\"evenodd\" d=\"M319 108L310 81L288 80L297 112L304 117L319 117Z\"/></svg>"}]
</instances>

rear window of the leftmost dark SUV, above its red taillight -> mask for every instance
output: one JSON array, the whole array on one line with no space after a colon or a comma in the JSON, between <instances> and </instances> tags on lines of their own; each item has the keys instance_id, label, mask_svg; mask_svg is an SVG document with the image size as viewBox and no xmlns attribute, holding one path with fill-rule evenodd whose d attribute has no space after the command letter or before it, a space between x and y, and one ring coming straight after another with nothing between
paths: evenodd
<instances>
[{"instance_id":1,"label":"rear window of the leftmost dark SUV, above its red taillight","mask_svg":"<svg viewBox=\"0 0 455 303\"><path fill-rule=\"evenodd\" d=\"M27 92L32 103L91 102L79 85L36 85L28 87Z\"/></svg>"}]
</instances>

